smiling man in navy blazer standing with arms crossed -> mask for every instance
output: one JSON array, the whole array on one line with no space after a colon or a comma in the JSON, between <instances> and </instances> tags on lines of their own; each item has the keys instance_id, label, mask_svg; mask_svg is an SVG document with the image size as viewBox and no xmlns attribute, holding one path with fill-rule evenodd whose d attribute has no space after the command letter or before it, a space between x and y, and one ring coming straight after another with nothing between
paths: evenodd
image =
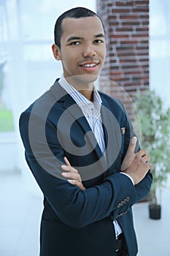
<instances>
[{"instance_id":1,"label":"smiling man in navy blazer standing with arms crossed","mask_svg":"<svg viewBox=\"0 0 170 256\"><path fill-rule=\"evenodd\" d=\"M118 99L96 91L104 26L85 8L55 23L63 76L20 116L26 161L44 194L41 256L137 253L131 206L150 192L150 156L139 149Z\"/></svg>"}]
</instances>

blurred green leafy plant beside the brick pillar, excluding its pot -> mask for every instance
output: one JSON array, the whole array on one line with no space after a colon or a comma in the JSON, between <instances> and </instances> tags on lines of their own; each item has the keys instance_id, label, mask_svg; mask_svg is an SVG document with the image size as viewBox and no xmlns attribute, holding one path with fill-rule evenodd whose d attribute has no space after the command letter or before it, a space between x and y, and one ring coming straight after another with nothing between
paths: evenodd
<instances>
[{"instance_id":1,"label":"blurred green leafy plant beside the brick pillar, excluding its pot","mask_svg":"<svg viewBox=\"0 0 170 256\"><path fill-rule=\"evenodd\" d=\"M163 106L163 100L154 90L143 91L136 95L136 108L141 125L141 144L151 156L153 181L151 203L157 204L156 191L165 186L170 173L170 108ZM139 125L134 121L134 127Z\"/></svg>"}]
</instances>

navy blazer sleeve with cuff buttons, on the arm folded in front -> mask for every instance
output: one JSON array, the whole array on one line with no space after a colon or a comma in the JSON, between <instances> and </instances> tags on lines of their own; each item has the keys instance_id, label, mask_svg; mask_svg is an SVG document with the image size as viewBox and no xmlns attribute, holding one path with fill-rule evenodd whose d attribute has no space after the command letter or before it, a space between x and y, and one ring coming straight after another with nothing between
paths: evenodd
<instances>
[{"instance_id":1,"label":"navy blazer sleeve with cuff buttons, on the arm folded in front","mask_svg":"<svg viewBox=\"0 0 170 256\"><path fill-rule=\"evenodd\" d=\"M41 132L34 136L32 143L36 148L35 157L30 143L30 113L30 110L26 110L20 116L20 135L26 151L26 161L48 203L66 225L80 228L109 215L115 218L120 208L121 211L128 211L139 200L139 191L144 186L149 187L148 181L147 185L144 182L136 188L121 173L112 174L104 178L102 184L85 191L70 184L61 176L64 151L59 143L56 127L48 120L45 127L45 132L50 135L47 137L48 141L42 138ZM34 121L34 126L31 127L33 133L35 127L40 131L39 127L44 120L41 116L35 116ZM50 151L46 151L47 144L53 149L53 156Z\"/></svg>"}]
</instances>

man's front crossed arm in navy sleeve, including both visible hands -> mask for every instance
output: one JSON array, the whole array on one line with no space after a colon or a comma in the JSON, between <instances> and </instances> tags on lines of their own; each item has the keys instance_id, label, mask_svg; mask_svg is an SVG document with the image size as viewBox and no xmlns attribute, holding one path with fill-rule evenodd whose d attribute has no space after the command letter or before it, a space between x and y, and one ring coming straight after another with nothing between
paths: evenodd
<instances>
[{"instance_id":1,"label":"man's front crossed arm in navy sleeve, including both visible hands","mask_svg":"<svg viewBox=\"0 0 170 256\"><path fill-rule=\"evenodd\" d=\"M37 115L35 115L31 127L34 135L35 153L38 152L38 157L34 156L29 138L29 120L29 112L26 111L20 117L20 133L26 148L26 160L45 195L48 205L53 208L56 218L61 219L66 225L76 228L84 227L109 217L109 214L112 214L113 219L115 219L120 211L128 211L134 203L150 191L152 178L150 175L146 175L151 168L148 163L150 157L144 150L134 154L136 139L131 140L131 146L123 161L126 167L125 170L122 165L122 171L130 175L134 179L134 184L137 184L135 187L130 178L120 173L113 173L104 177L101 184L85 189L85 187L82 187L79 173L69 164L66 158L66 165L61 165L64 152L58 142L58 137L54 136L56 133L55 126L51 125L48 120L46 122L47 143L53 147L54 154L61 161L56 161L55 157L51 157L51 154L46 152L46 143L42 140L41 130L39 131L39 126L44 118ZM130 157L128 154L130 154ZM131 162L131 159L133 159L133 162ZM67 173L64 174L65 176L62 175L66 178L61 178L61 170L63 170L63 173ZM66 180L72 181L68 182ZM139 182L141 180L142 182ZM117 208L120 200L127 196L130 200L123 204L121 209Z\"/></svg>"}]
</instances>

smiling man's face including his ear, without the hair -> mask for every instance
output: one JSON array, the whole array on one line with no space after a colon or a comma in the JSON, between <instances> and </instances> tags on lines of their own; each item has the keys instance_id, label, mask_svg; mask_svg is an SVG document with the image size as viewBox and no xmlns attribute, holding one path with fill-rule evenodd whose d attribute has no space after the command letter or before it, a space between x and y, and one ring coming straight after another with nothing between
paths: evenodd
<instances>
[{"instance_id":1,"label":"smiling man's face including his ear, without the hair","mask_svg":"<svg viewBox=\"0 0 170 256\"><path fill-rule=\"evenodd\" d=\"M73 86L93 84L106 54L101 20L97 16L65 18L62 28L61 49L53 45L53 53L62 61L64 77Z\"/></svg>"}]
</instances>

